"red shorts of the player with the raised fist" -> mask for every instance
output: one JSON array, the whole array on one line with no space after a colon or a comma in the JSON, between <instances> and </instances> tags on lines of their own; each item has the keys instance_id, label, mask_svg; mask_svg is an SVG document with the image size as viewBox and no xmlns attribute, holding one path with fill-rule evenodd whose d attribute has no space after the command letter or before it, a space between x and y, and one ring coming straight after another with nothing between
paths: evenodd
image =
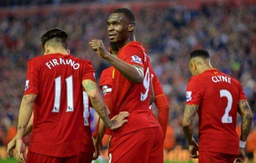
<instances>
[{"instance_id":1,"label":"red shorts of the player with the raised fist","mask_svg":"<svg viewBox=\"0 0 256 163\"><path fill-rule=\"evenodd\" d=\"M112 136L108 163L163 163L163 141L160 126Z\"/></svg>"}]
</instances>

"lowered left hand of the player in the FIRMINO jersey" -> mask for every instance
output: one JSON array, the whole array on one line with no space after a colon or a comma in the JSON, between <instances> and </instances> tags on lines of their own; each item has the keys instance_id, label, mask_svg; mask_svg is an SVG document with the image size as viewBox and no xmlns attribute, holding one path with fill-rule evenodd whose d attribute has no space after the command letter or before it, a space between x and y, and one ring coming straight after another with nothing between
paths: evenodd
<instances>
[{"instance_id":1,"label":"lowered left hand of the player in the FIRMINO jersey","mask_svg":"<svg viewBox=\"0 0 256 163\"><path fill-rule=\"evenodd\" d=\"M21 139L16 140L16 155L15 158L19 163L25 163L26 161L26 145Z\"/></svg>"}]
</instances>

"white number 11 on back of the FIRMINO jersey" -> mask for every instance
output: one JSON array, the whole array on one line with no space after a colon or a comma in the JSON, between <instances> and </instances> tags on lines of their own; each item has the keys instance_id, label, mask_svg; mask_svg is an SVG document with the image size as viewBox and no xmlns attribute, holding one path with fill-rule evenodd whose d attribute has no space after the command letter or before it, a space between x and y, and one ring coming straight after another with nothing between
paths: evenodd
<instances>
[{"instance_id":1,"label":"white number 11 on back of the FIRMINO jersey","mask_svg":"<svg viewBox=\"0 0 256 163\"><path fill-rule=\"evenodd\" d=\"M66 79L67 84L67 109L66 112L73 112L73 76L69 76ZM55 98L52 112L60 112L61 102L61 76L54 79L55 81Z\"/></svg>"}]
</instances>

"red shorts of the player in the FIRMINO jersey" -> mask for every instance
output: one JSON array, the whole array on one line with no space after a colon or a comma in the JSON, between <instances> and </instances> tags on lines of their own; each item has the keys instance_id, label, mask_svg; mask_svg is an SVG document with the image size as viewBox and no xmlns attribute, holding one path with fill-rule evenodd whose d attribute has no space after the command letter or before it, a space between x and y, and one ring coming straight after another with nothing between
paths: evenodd
<instances>
[{"instance_id":1,"label":"red shorts of the player in the FIRMINO jersey","mask_svg":"<svg viewBox=\"0 0 256 163\"><path fill-rule=\"evenodd\" d=\"M79 163L79 156L53 157L28 151L26 163Z\"/></svg>"}]
</instances>

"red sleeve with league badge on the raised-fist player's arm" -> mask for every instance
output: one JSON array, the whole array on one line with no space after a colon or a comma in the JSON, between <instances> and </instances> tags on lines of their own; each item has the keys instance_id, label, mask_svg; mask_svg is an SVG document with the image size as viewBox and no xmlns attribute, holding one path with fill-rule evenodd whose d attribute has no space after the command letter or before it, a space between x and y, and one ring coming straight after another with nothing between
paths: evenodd
<instances>
[{"instance_id":1,"label":"red sleeve with league badge on the raised-fist player's arm","mask_svg":"<svg viewBox=\"0 0 256 163\"><path fill-rule=\"evenodd\" d=\"M139 65L144 68L144 53L140 47L128 46L124 49L125 59L124 61L131 65Z\"/></svg>"}]
</instances>

